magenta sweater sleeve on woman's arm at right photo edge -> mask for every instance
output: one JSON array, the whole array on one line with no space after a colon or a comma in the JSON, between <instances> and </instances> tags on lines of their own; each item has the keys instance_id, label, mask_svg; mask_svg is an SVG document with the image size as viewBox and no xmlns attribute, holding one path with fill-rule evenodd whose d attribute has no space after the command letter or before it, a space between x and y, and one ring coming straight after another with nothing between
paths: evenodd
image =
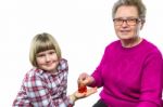
<instances>
[{"instance_id":1,"label":"magenta sweater sleeve on woman's arm at right photo edge","mask_svg":"<svg viewBox=\"0 0 163 107\"><path fill-rule=\"evenodd\" d=\"M162 107L163 59L151 53L145 62L141 77L141 96L137 107Z\"/></svg>"}]
</instances>

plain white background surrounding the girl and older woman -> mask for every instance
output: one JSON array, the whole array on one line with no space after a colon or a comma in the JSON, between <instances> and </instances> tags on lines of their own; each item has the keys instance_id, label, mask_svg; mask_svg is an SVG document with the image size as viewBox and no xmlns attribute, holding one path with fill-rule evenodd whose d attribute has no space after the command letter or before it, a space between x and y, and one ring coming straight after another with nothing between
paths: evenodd
<instances>
[{"instance_id":1,"label":"plain white background surrounding the girl and older woman","mask_svg":"<svg viewBox=\"0 0 163 107\"><path fill-rule=\"evenodd\" d=\"M26 71L29 43L39 32L53 35L68 61L68 90L77 90L77 77L91 73L104 48L116 40L112 5L116 0L0 0L0 106L11 107ZM162 0L143 0L147 23L141 37L163 52ZM101 90L101 89L100 89ZM98 93L77 101L75 107L91 107Z\"/></svg>"}]
</instances>

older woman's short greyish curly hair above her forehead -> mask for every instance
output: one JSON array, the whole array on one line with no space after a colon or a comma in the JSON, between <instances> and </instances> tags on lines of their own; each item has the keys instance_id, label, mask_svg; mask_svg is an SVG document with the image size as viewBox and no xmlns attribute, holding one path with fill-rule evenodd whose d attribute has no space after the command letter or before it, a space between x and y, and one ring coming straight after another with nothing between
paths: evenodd
<instances>
[{"instance_id":1,"label":"older woman's short greyish curly hair above her forehead","mask_svg":"<svg viewBox=\"0 0 163 107\"><path fill-rule=\"evenodd\" d=\"M113 18L115 16L117 9L122 5L136 6L138 10L139 18L145 21L147 10L141 0L118 0L117 2L114 3L113 9L112 9L112 17Z\"/></svg>"}]
</instances>

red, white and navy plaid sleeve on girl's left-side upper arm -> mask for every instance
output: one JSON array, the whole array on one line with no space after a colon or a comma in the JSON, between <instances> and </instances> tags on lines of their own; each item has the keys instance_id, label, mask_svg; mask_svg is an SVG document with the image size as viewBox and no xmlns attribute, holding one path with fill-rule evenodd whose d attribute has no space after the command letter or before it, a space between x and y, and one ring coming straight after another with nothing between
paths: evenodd
<instances>
[{"instance_id":1,"label":"red, white and navy plaid sleeve on girl's left-side upper arm","mask_svg":"<svg viewBox=\"0 0 163 107\"><path fill-rule=\"evenodd\" d=\"M48 88L46 86L46 81L43 81L38 76L33 76L24 81L24 88L26 95L30 99L33 106L37 107L49 107L53 106L52 97Z\"/></svg>"}]
</instances>

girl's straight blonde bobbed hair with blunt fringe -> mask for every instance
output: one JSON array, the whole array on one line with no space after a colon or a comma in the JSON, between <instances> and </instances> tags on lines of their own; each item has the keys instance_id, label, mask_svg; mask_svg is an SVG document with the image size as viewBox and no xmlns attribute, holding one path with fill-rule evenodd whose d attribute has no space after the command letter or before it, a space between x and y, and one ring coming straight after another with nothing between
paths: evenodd
<instances>
[{"instance_id":1,"label":"girl's straight blonde bobbed hair with blunt fringe","mask_svg":"<svg viewBox=\"0 0 163 107\"><path fill-rule=\"evenodd\" d=\"M57 42L57 40L47 32L36 35L30 43L29 50L29 61L33 66L37 67L36 55L39 52L46 50L55 50L58 58L60 59L61 56L61 49Z\"/></svg>"}]
</instances>

